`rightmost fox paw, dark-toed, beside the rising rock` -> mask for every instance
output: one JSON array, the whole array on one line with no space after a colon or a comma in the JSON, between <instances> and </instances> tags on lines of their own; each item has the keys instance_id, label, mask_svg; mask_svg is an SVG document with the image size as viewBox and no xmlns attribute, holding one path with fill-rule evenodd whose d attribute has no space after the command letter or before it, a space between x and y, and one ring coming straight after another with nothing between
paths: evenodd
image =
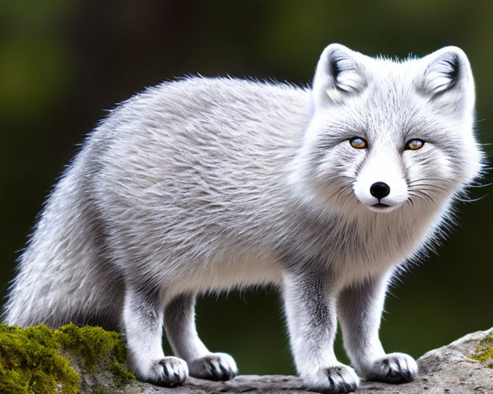
<instances>
[{"instance_id":1,"label":"rightmost fox paw, dark-toed, beside the rising rock","mask_svg":"<svg viewBox=\"0 0 493 394\"><path fill-rule=\"evenodd\" d=\"M365 373L368 380L384 383L406 383L418 374L418 365L411 356L404 353L390 353L373 362Z\"/></svg>"}]
</instances>

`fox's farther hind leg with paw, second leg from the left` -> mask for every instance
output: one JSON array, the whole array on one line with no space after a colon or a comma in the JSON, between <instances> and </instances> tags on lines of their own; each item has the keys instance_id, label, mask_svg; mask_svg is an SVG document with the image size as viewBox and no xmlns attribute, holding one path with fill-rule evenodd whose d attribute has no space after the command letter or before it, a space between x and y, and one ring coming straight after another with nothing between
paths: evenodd
<instances>
[{"instance_id":1,"label":"fox's farther hind leg with paw, second leg from the left","mask_svg":"<svg viewBox=\"0 0 493 394\"><path fill-rule=\"evenodd\" d=\"M229 380L238 368L226 353L211 353L195 329L195 295L184 293L165 308L164 324L173 353L188 364L190 376L209 380Z\"/></svg>"}]
</instances>

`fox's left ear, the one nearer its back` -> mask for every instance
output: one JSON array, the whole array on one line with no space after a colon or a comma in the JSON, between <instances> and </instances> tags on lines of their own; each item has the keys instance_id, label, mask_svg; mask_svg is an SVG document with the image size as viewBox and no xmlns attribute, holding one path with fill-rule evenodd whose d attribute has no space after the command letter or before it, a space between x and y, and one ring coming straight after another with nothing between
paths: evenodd
<instances>
[{"instance_id":1,"label":"fox's left ear, the one nearer its back","mask_svg":"<svg viewBox=\"0 0 493 394\"><path fill-rule=\"evenodd\" d=\"M340 44L330 44L323 50L313 84L316 104L339 103L365 88L362 57Z\"/></svg>"}]
</instances>

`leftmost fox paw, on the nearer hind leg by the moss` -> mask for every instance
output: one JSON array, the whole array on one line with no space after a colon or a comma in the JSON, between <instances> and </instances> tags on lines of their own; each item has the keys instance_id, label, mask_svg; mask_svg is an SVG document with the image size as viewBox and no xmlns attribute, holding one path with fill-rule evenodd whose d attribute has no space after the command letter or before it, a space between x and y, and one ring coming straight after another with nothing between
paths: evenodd
<instances>
[{"instance_id":1,"label":"leftmost fox paw, on the nearer hind leg by the moss","mask_svg":"<svg viewBox=\"0 0 493 394\"><path fill-rule=\"evenodd\" d=\"M165 357L154 361L147 376L137 376L140 380L162 387L176 387L188 377L186 361L177 357Z\"/></svg>"}]
</instances>

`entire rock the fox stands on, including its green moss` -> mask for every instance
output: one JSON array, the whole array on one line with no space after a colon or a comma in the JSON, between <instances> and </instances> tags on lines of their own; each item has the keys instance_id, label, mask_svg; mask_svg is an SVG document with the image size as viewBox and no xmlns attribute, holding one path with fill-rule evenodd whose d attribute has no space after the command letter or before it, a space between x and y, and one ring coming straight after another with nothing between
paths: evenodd
<instances>
[{"instance_id":1,"label":"entire rock the fox stands on, including its green moss","mask_svg":"<svg viewBox=\"0 0 493 394\"><path fill-rule=\"evenodd\" d=\"M53 371L52 359L58 365L57 376L47 373ZM69 325L51 331L46 326L20 329L0 325L1 393L75 393L77 390L80 394L311 393L304 389L300 378L283 375L241 375L227 382L189 378L181 387L166 389L133 379L123 360L124 344L119 335L101 328ZM356 393L493 394L493 328L432 350L418 360L418 365L420 374L413 382L403 385L362 382ZM39 381L42 387L40 383L32 384L33 376L38 380L43 377ZM80 376L78 383L73 381L77 376ZM9 389L13 385L15 391Z\"/></svg>"}]
</instances>

